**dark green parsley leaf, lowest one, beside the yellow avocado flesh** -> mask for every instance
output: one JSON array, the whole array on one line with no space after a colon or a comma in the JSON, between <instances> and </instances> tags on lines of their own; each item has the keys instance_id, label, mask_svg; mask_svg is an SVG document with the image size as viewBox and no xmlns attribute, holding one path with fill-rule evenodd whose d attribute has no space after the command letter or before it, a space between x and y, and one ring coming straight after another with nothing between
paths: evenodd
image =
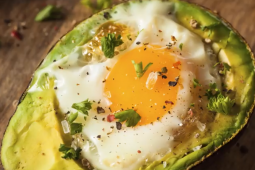
<instances>
[{"instance_id":1,"label":"dark green parsley leaf, lowest one, beside the yellow avocado flesh","mask_svg":"<svg viewBox=\"0 0 255 170\"><path fill-rule=\"evenodd\" d=\"M81 148L77 148L74 150L73 148L67 147L64 144L60 144L59 152L62 152L64 156L62 158L64 159L79 159Z\"/></svg>"}]
</instances>

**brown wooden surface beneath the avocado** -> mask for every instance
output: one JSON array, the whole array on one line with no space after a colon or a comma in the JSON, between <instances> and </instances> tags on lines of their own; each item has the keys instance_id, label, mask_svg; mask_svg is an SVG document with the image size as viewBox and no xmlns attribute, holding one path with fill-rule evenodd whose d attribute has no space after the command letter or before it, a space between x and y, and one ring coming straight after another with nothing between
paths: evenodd
<instances>
[{"instance_id":1,"label":"brown wooden surface beneath the avocado","mask_svg":"<svg viewBox=\"0 0 255 170\"><path fill-rule=\"evenodd\" d=\"M191 2L218 11L247 40L251 49L255 50L255 0L191 0ZM34 22L37 12L47 4L63 7L65 18ZM16 103L40 61L75 22L91 14L79 0L0 1L0 145ZM11 23L5 23L6 19L11 19ZM24 22L26 28L20 28L22 40L11 37L11 31L17 26L24 25ZM255 170L254 116L241 135L193 169ZM0 170L2 169L0 165Z\"/></svg>"}]
</instances>

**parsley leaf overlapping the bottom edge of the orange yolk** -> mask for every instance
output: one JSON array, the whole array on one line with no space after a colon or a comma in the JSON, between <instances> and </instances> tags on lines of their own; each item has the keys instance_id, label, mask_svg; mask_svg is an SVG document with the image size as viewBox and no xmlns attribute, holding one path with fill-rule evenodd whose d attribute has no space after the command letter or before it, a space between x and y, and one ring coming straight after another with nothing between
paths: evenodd
<instances>
[{"instance_id":1,"label":"parsley leaf overlapping the bottom edge of the orange yolk","mask_svg":"<svg viewBox=\"0 0 255 170\"><path fill-rule=\"evenodd\" d=\"M119 119L120 122L126 121L127 127L135 126L141 119L141 116L133 109L115 113L114 116L115 119Z\"/></svg>"}]
</instances>

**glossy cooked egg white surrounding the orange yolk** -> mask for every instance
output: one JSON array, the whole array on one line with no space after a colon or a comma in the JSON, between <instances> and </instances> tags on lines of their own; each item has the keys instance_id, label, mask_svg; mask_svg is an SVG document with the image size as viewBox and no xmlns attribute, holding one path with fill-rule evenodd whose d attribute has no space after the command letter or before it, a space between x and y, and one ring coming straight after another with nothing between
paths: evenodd
<instances>
[{"instance_id":1,"label":"glossy cooked egg white surrounding the orange yolk","mask_svg":"<svg viewBox=\"0 0 255 170\"><path fill-rule=\"evenodd\" d=\"M78 122L83 123L84 127L82 135L75 136L73 146L81 147L82 156L96 169L134 170L171 152L175 144L173 130L182 125L179 116L187 114L190 103L194 100L189 90L192 79L197 78L202 84L220 83L210 69L211 61L202 39L168 15L171 7L170 2L151 1L136 4L128 10L119 9L112 19L140 31L128 49L101 63L79 65L79 57L83 55L82 47L76 47L69 56L41 71L41 74L47 72L56 78L56 96L62 113L75 111L71 108L73 103L86 99L95 101L86 121L83 115L79 115ZM166 44L171 42L171 36L177 39L173 48L178 49L180 43L184 44L182 51L171 53L176 60L182 61L180 77L183 82L183 88L178 92L179 99L171 109L171 114L166 113L160 121L153 124L135 128L124 127L122 130L116 129L115 122L102 121L111 113L102 83L109 74L106 67L114 67L123 53L137 48L137 41L166 48ZM182 55L179 55L180 52ZM58 66L63 64L66 67L59 69ZM203 67L200 67L201 65ZM196 74L194 70L198 70ZM30 89L33 90L35 88ZM97 114L97 106L105 108L106 113ZM101 135L100 139L97 138L98 135ZM138 153L138 150L141 153Z\"/></svg>"}]
</instances>

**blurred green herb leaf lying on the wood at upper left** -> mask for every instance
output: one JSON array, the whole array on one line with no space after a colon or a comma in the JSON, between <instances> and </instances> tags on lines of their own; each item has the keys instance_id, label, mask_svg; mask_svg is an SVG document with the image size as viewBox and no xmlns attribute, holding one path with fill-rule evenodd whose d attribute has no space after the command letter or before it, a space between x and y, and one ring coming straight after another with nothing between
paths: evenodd
<instances>
[{"instance_id":1,"label":"blurred green herb leaf lying on the wood at upper left","mask_svg":"<svg viewBox=\"0 0 255 170\"><path fill-rule=\"evenodd\" d=\"M53 5L48 5L36 15L35 21L54 20L61 18L63 18L61 9Z\"/></svg>"}]
</instances>

